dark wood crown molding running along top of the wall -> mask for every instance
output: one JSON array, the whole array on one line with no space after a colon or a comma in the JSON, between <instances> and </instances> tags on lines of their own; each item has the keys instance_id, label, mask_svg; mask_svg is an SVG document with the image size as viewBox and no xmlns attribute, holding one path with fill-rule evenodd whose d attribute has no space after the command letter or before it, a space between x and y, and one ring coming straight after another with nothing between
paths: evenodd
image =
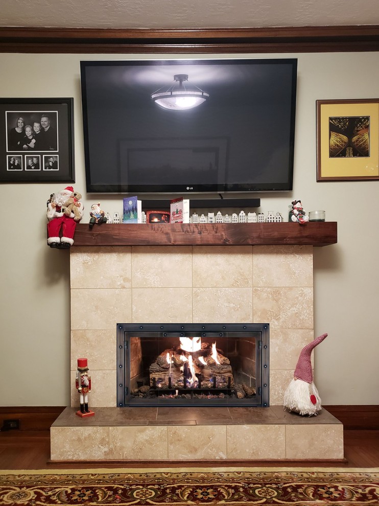
<instances>
[{"instance_id":1,"label":"dark wood crown molding running along top of the wall","mask_svg":"<svg viewBox=\"0 0 379 506\"><path fill-rule=\"evenodd\" d=\"M0 27L2 53L379 51L379 26L211 29Z\"/></svg>"}]
</instances>

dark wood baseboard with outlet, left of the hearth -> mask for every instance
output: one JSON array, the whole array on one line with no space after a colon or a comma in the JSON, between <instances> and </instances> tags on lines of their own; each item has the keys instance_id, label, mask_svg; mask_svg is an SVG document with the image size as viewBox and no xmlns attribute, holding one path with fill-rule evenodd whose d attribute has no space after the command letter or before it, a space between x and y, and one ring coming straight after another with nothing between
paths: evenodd
<instances>
[{"instance_id":1,"label":"dark wood baseboard with outlet, left of the hearth","mask_svg":"<svg viewBox=\"0 0 379 506\"><path fill-rule=\"evenodd\" d=\"M66 406L0 406L0 429L5 420L19 420L19 430L49 430Z\"/></svg>"}]
</instances>

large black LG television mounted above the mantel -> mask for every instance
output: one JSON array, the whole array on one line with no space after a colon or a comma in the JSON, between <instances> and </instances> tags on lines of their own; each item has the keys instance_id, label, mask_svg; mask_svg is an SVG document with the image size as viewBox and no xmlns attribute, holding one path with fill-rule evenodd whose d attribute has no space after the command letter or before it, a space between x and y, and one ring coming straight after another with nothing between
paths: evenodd
<instances>
[{"instance_id":1,"label":"large black LG television mounted above the mantel","mask_svg":"<svg viewBox=\"0 0 379 506\"><path fill-rule=\"evenodd\" d=\"M292 190L296 59L92 60L80 70L87 192Z\"/></svg>"}]
</instances>

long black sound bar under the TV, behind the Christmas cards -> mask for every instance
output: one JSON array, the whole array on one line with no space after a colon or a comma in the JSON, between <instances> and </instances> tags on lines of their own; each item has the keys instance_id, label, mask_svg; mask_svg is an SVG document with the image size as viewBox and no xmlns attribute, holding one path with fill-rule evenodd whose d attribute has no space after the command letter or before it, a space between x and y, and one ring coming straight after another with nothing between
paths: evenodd
<instances>
[{"instance_id":1,"label":"long black sound bar under the TV, behind the Christmas cards","mask_svg":"<svg viewBox=\"0 0 379 506\"><path fill-rule=\"evenodd\" d=\"M143 210L170 211L171 199L142 200ZM246 208L259 208L260 198L209 198L196 199L189 198L189 209L218 209L218 208L236 208L244 210Z\"/></svg>"}]
</instances>

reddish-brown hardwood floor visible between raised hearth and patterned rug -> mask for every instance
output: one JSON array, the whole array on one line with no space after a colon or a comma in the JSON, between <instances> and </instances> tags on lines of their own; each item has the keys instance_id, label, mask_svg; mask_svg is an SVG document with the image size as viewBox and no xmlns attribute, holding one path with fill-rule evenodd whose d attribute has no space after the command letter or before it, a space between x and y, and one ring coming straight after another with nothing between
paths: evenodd
<instances>
[{"instance_id":1,"label":"reddish-brown hardwood floor visible between raised hearth and patterned rug","mask_svg":"<svg viewBox=\"0 0 379 506\"><path fill-rule=\"evenodd\" d=\"M379 467L379 430L344 430L344 449L346 468L367 468ZM83 463L50 463L50 431L49 430L30 430L18 431L10 430L0 432L0 469L80 469L80 468L133 468L135 463L92 463L89 465ZM275 464L277 466L278 464ZM283 463L281 466L285 466ZM313 464L310 464L314 466ZM198 467L201 464L198 464ZM220 466L223 463L220 461ZM240 466L244 466L241 462ZM267 467L267 465L265 465ZM139 465L138 467L152 467L152 464ZM168 467L165 465L156 465L154 467ZM252 466L253 467L253 466ZM295 467L291 465L291 467ZM296 467L307 467L299 464ZM320 467L320 466L317 466ZM321 466L321 467L341 467L341 466Z\"/></svg>"}]
</instances>

